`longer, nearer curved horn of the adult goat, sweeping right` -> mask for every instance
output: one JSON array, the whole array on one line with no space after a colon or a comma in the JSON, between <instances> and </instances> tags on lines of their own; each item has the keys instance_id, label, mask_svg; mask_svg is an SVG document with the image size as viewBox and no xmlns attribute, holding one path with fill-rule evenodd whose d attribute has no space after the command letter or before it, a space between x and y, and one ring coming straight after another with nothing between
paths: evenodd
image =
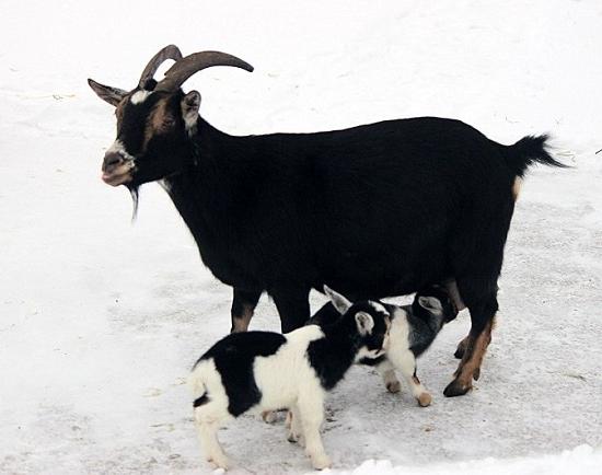
<instances>
[{"instance_id":1,"label":"longer, nearer curved horn of the adult goat, sweeping right","mask_svg":"<svg viewBox=\"0 0 602 475\"><path fill-rule=\"evenodd\" d=\"M165 78L157 84L155 91L175 91L184 81L186 81L195 72L211 66L234 66L235 68L244 69L248 72L253 71L253 66L235 56L220 51L200 51L194 53L181 59L173 65Z\"/></svg>"}]
</instances>

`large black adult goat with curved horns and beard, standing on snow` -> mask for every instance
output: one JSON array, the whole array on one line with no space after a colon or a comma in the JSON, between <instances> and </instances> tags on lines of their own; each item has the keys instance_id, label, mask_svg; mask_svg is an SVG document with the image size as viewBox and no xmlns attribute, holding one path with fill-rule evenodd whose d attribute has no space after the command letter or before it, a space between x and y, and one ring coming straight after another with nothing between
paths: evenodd
<instances>
[{"instance_id":1,"label":"large black adult goat with curved horns and beard, standing on snow","mask_svg":"<svg viewBox=\"0 0 602 475\"><path fill-rule=\"evenodd\" d=\"M176 62L158 83L167 58ZM290 332L310 317L310 289L324 283L367 300L455 279L472 328L444 393L466 393L490 340L520 178L533 162L562 166L546 137L502 146L435 117L232 137L198 116L198 92L181 90L210 66L253 69L223 53L182 58L167 46L130 92L89 80L116 106L103 179L135 197L141 184L163 181L202 262L234 288L233 331L247 328L263 291Z\"/></svg>"}]
</instances>

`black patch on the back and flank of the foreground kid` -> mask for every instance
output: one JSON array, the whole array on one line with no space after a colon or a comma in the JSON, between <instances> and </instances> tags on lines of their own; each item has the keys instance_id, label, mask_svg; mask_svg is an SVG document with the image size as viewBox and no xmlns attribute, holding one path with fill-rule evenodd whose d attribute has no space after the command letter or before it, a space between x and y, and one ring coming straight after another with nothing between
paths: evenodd
<instances>
[{"instance_id":1,"label":"black patch on the back and flank of the foreground kid","mask_svg":"<svg viewBox=\"0 0 602 475\"><path fill-rule=\"evenodd\" d=\"M278 333L233 333L216 343L196 364L201 360L213 359L228 395L228 410L238 417L262 399L262 392L253 375L255 358L274 355L286 341L287 338ZM195 401L195 407L204 396Z\"/></svg>"}]
</instances>

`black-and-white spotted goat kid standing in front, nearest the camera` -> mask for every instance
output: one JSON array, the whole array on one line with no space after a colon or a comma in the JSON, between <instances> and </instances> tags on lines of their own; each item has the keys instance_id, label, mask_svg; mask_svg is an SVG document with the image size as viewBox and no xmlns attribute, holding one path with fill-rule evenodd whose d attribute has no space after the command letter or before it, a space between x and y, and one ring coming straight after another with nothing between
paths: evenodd
<instances>
[{"instance_id":1,"label":"black-and-white spotted goat kid standing in front, nearest the camera","mask_svg":"<svg viewBox=\"0 0 602 475\"><path fill-rule=\"evenodd\" d=\"M202 355L189 379L195 424L209 462L228 460L217 432L228 419L253 412L288 408L288 440L304 439L314 468L331 466L320 437L325 392L359 360L382 357L389 341L390 313L374 302L351 304L325 288L343 316L332 324L308 325L286 335L233 333Z\"/></svg>"}]
</instances>

